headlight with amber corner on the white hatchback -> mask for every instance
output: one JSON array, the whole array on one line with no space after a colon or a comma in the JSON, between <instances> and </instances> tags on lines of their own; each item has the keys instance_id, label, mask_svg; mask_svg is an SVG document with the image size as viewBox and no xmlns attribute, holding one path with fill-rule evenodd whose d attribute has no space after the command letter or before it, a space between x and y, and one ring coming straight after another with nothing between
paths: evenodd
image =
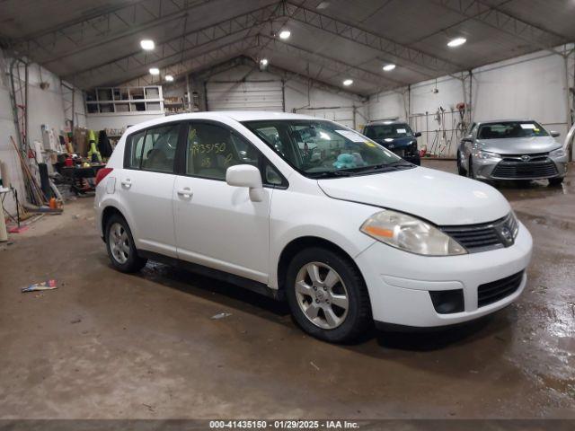
<instances>
[{"instance_id":1,"label":"headlight with amber corner on the white hatchback","mask_svg":"<svg viewBox=\"0 0 575 431\"><path fill-rule=\"evenodd\" d=\"M467 251L431 224L386 209L369 217L359 229L379 242L426 256L452 256Z\"/></svg>"}]
</instances>

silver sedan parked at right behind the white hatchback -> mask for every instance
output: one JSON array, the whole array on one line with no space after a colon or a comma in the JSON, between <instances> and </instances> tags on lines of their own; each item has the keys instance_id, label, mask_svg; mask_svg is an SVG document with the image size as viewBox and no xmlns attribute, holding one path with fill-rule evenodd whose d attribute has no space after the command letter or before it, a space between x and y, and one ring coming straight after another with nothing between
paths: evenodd
<instances>
[{"instance_id":1,"label":"silver sedan parked at right behind the white hatchback","mask_svg":"<svg viewBox=\"0 0 575 431\"><path fill-rule=\"evenodd\" d=\"M457 148L460 175L476 180L538 180L562 183L567 152L531 119L473 123Z\"/></svg>"}]
</instances>

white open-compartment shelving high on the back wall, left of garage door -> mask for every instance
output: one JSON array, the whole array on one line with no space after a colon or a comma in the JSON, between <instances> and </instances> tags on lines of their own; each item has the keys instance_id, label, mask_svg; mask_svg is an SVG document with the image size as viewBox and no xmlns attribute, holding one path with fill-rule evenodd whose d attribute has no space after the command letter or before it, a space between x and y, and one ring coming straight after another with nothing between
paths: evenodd
<instances>
[{"instance_id":1,"label":"white open-compartment shelving high on the back wall, left of garage door","mask_svg":"<svg viewBox=\"0 0 575 431\"><path fill-rule=\"evenodd\" d=\"M146 87L103 87L86 92L88 114L164 112L160 85Z\"/></svg>"}]
</instances>

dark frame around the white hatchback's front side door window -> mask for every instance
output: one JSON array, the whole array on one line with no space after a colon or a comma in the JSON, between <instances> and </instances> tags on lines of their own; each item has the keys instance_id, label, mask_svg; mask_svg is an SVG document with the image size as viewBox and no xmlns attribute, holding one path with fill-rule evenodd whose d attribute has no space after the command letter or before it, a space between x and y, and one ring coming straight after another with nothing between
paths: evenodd
<instances>
[{"instance_id":1,"label":"dark frame around the white hatchback's front side door window","mask_svg":"<svg viewBox=\"0 0 575 431\"><path fill-rule=\"evenodd\" d=\"M226 182L226 178L214 178L214 177L207 177L205 175L196 175L190 174L186 172L186 163L187 163L187 151L188 151L188 133L190 130L190 126L194 124L205 124L209 126L216 126L220 128L225 128L230 133L237 136L239 139L245 141L247 145L252 145L253 149L259 154L259 162L258 162L258 171L260 171L261 175L261 184L266 189L288 189L289 182L286 177L279 171L275 164L270 162L270 159L265 156L265 154L261 153L260 148L257 145L254 145L247 136L243 136L235 128L227 125L226 123L222 123L213 119L188 119L181 121L181 128L180 128L180 139L178 140L178 147L176 149L176 156L175 156L175 172L176 175L181 175L182 177L190 177L190 178L200 178L202 180L213 180L213 181L221 181ZM246 163L247 164L247 163ZM265 181L265 168L266 164L269 164L271 168L276 171L281 179L281 184L270 184L269 182ZM237 166L237 165L234 165Z\"/></svg>"}]
</instances>

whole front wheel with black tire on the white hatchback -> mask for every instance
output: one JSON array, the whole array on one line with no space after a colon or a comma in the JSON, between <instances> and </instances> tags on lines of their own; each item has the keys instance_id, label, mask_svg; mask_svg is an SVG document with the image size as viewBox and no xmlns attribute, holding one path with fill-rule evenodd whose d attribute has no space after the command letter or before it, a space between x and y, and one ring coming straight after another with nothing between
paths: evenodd
<instances>
[{"instance_id":1,"label":"whole front wheel with black tire on the white hatchback","mask_svg":"<svg viewBox=\"0 0 575 431\"><path fill-rule=\"evenodd\" d=\"M297 324L317 339L357 339L372 322L367 287L349 258L313 247L296 254L286 277L288 304Z\"/></svg>"}]
</instances>

